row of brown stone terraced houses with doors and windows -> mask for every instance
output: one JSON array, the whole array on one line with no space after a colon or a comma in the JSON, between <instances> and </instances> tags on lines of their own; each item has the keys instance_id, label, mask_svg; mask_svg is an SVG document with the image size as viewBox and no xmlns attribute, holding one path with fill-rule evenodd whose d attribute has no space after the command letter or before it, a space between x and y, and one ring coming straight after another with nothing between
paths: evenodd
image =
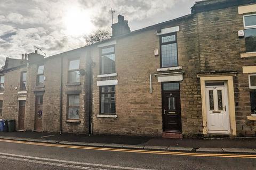
<instances>
[{"instance_id":1,"label":"row of brown stone terraced houses with doors and windows","mask_svg":"<svg viewBox=\"0 0 256 170\"><path fill-rule=\"evenodd\" d=\"M50 57L6 58L0 116L17 130L255 136L256 1L197 2L191 14Z\"/></svg>"}]
</instances>

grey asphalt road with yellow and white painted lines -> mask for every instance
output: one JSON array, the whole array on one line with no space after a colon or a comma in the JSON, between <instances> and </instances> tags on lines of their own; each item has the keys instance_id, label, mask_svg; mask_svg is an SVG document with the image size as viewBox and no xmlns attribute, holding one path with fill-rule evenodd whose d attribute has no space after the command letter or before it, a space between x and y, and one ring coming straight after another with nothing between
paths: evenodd
<instances>
[{"instance_id":1,"label":"grey asphalt road with yellow and white painted lines","mask_svg":"<svg viewBox=\"0 0 256 170\"><path fill-rule=\"evenodd\" d=\"M0 169L255 169L256 155L246 155L107 149L0 140Z\"/></svg>"}]
</instances>

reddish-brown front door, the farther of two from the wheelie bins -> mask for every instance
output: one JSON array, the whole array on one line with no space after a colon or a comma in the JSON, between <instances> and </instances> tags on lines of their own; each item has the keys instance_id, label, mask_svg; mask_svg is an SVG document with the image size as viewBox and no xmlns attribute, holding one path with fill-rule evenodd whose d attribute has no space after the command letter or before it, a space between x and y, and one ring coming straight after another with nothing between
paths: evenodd
<instances>
[{"instance_id":1,"label":"reddish-brown front door, the farther of two from the wheelie bins","mask_svg":"<svg viewBox=\"0 0 256 170\"><path fill-rule=\"evenodd\" d=\"M43 96L36 96L35 131L41 132L43 117Z\"/></svg>"}]
</instances>

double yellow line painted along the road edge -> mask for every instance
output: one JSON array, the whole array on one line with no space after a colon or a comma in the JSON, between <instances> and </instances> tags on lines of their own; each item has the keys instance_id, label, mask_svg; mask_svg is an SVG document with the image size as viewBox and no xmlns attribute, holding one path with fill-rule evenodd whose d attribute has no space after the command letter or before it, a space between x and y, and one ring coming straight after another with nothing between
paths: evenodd
<instances>
[{"instance_id":1,"label":"double yellow line painted along the road edge","mask_svg":"<svg viewBox=\"0 0 256 170\"><path fill-rule=\"evenodd\" d=\"M256 155L242 155L242 154L207 154L207 153L193 153L193 152L173 152L173 151L152 151L152 150L135 150L135 149L116 149L116 148L99 148L99 147L84 147L72 145L49 144L39 142L27 142L16 140L0 139L0 142L20 143L26 145L60 147L60 148L74 148L87 150L103 150L103 151L117 151L117 152L133 152L143 154L158 154L158 155L181 155L181 156L199 156L199 157L222 157L222 158L256 158Z\"/></svg>"}]
</instances>

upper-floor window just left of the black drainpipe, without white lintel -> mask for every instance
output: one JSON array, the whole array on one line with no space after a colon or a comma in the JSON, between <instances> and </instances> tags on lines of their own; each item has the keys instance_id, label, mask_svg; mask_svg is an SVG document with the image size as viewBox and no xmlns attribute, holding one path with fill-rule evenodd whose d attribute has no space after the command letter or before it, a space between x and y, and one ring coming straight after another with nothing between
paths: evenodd
<instances>
[{"instance_id":1,"label":"upper-floor window just left of the black drainpipe, without white lintel","mask_svg":"<svg viewBox=\"0 0 256 170\"><path fill-rule=\"evenodd\" d=\"M79 63L79 59L68 62L68 83L80 82Z\"/></svg>"}]
</instances>

